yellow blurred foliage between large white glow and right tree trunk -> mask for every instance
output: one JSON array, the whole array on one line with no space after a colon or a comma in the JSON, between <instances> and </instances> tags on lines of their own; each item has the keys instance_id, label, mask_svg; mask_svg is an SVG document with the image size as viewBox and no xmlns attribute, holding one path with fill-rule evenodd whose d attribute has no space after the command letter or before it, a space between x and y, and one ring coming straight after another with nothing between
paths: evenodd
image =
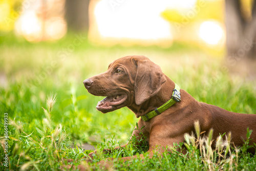
<instances>
[{"instance_id":1,"label":"yellow blurred foliage between large white glow and right tree trunk","mask_svg":"<svg viewBox=\"0 0 256 171\"><path fill-rule=\"evenodd\" d=\"M200 46L210 47L212 45L199 38L199 27L205 21L224 23L224 1L197 0L194 5L169 7L161 15L173 26L174 40L192 42L193 44L197 42ZM221 41L218 44L220 47L223 45ZM216 48L218 52L219 49Z\"/></svg>"}]
</instances>

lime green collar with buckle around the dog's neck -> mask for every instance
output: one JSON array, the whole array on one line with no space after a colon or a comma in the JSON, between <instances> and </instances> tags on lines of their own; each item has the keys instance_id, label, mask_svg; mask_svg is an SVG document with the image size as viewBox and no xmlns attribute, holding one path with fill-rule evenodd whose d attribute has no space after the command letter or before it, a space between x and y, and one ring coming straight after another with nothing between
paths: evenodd
<instances>
[{"instance_id":1,"label":"lime green collar with buckle around the dog's neck","mask_svg":"<svg viewBox=\"0 0 256 171\"><path fill-rule=\"evenodd\" d=\"M174 105L176 102L180 102L180 88L177 84L175 84L175 88L173 91L172 97L159 108L156 108L154 111L147 113L146 115L141 116L141 119L144 121L148 121L151 118L154 118L157 115L160 115L162 112L170 108L170 106Z\"/></svg>"}]
</instances>

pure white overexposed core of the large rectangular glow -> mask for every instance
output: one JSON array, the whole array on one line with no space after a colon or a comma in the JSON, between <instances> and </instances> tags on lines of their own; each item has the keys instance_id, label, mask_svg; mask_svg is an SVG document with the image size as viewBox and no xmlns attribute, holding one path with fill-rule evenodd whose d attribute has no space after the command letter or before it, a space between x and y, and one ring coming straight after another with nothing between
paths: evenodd
<instances>
[{"instance_id":1,"label":"pure white overexposed core of the large rectangular glow","mask_svg":"<svg viewBox=\"0 0 256 171\"><path fill-rule=\"evenodd\" d=\"M145 4L153 6L158 3L138 1L116 7L119 10L109 10L105 8L104 1L99 2L95 16L100 34L104 37L139 39L172 37L169 24L160 16L161 6L155 6L155 10L144 8L142 11L140 7Z\"/></svg>"}]
</instances>

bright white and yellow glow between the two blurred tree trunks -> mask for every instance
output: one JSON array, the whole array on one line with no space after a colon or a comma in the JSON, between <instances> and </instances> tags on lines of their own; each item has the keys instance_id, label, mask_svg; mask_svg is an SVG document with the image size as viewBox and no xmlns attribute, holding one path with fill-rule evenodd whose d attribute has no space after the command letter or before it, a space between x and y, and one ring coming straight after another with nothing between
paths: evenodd
<instances>
[{"instance_id":1,"label":"bright white and yellow glow between the two blurred tree trunks","mask_svg":"<svg viewBox=\"0 0 256 171\"><path fill-rule=\"evenodd\" d=\"M110 2L91 2L89 38L96 44L170 47L173 41L196 42L200 45L203 41L207 46L224 47L223 24L217 19L207 20L200 14L203 5L199 6L196 0ZM180 14L177 17L180 18L176 19L180 23L164 18L162 13L166 9L177 10ZM177 24L181 26L178 29L175 27Z\"/></svg>"}]
</instances>

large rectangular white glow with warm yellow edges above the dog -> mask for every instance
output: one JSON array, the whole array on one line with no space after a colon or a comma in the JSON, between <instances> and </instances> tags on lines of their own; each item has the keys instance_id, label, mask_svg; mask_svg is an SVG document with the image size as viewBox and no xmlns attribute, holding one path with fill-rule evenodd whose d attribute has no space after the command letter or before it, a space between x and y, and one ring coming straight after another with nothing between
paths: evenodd
<instances>
[{"instance_id":1,"label":"large rectangular white glow with warm yellow edges above the dog","mask_svg":"<svg viewBox=\"0 0 256 171\"><path fill-rule=\"evenodd\" d=\"M185 0L184 0L185 1ZM173 34L170 23L161 13L166 7L177 5L176 1L101 0L92 5L93 22L89 37L92 41L106 44L163 44L172 45Z\"/></svg>"}]
</instances>

